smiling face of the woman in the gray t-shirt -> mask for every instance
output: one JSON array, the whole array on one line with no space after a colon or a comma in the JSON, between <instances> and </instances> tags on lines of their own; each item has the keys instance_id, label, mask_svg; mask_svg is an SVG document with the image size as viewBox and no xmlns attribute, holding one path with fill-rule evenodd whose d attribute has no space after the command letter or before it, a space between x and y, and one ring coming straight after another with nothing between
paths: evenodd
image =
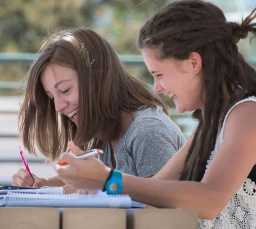
<instances>
[{"instance_id":1,"label":"smiling face of the woman in the gray t-shirt","mask_svg":"<svg viewBox=\"0 0 256 229\"><path fill-rule=\"evenodd\" d=\"M68 116L77 125L78 119L78 78L72 68L49 64L43 70L41 83L55 110Z\"/></svg>"}]
</instances>

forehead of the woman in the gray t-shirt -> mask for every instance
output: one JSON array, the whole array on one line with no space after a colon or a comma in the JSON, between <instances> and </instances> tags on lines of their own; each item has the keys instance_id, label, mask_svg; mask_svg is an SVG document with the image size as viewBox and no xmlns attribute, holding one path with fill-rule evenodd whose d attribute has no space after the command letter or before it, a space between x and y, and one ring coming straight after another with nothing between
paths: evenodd
<instances>
[{"instance_id":1,"label":"forehead of the woman in the gray t-shirt","mask_svg":"<svg viewBox=\"0 0 256 229\"><path fill-rule=\"evenodd\" d=\"M55 85L62 80L73 81L76 79L77 72L75 69L63 67L59 64L48 64L40 76L43 85Z\"/></svg>"}]
</instances>

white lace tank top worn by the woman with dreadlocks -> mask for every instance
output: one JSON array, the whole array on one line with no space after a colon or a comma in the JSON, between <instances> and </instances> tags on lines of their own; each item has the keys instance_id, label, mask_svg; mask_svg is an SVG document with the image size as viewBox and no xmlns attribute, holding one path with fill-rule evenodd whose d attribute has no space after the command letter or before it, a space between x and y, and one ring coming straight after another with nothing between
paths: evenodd
<instances>
[{"instance_id":1,"label":"white lace tank top worn by the woman with dreadlocks","mask_svg":"<svg viewBox=\"0 0 256 229\"><path fill-rule=\"evenodd\" d=\"M237 102L226 114L222 128L217 137L214 150L207 160L206 169L215 156L223 140L223 130L229 113L238 105L247 101L256 102L256 96L250 96ZM255 117L256 118L256 117ZM255 127L256 128L256 127ZM255 149L256 151L256 149ZM253 175L252 175L253 174ZM226 207L213 220L198 219L200 229L255 229L256 228L256 166L244 183L233 195Z\"/></svg>"}]
</instances>

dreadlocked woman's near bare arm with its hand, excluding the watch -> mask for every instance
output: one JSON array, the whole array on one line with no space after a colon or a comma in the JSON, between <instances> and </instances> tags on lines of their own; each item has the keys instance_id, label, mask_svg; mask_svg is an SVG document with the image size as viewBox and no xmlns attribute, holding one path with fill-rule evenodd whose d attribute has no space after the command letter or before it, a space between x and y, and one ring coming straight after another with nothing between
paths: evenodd
<instances>
[{"instance_id":1,"label":"dreadlocked woman's near bare arm with its hand, excluding the watch","mask_svg":"<svg viewBox=\"0 0 256 229\"><path fill-rule=\"evenodd\" d=\"M195 209L199 218L215 218L255 165L255 117L254 102L245 102L234 108L226 122L223 142L201 182L170 181L123 174L123 193L147 205ZM72 144L69 149L79 151ZM63 154L62 157L71 165L56 166L58 176L63 181L76 189L102 189L110 171L102 162L94 158L79 160L68 154ZM175 158L170 159L173 166L176 166ZM172 173L166 168L165 170L162 171L162 177L172 178Z\"/></svg>"}]
</instances>

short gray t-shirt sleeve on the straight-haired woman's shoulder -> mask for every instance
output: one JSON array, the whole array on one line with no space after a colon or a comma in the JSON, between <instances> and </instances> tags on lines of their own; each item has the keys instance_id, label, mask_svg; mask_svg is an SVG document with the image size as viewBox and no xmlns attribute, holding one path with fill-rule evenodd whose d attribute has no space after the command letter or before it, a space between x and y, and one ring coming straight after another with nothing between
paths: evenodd
<instances>
[{"instance_id":1,"label":"short gray t-shirt sleeve on the straight-haired woman's shoulder","mask_svg":"<svg viewBox=\"0 0 256 229\"><path fill-rule=\"evenodd\" d=\"M158 173L185 142L180 128L172 122L156 118L135 120L126 137L126 148L131 153L140 177Z\"/></svg>"}]
</instances>

